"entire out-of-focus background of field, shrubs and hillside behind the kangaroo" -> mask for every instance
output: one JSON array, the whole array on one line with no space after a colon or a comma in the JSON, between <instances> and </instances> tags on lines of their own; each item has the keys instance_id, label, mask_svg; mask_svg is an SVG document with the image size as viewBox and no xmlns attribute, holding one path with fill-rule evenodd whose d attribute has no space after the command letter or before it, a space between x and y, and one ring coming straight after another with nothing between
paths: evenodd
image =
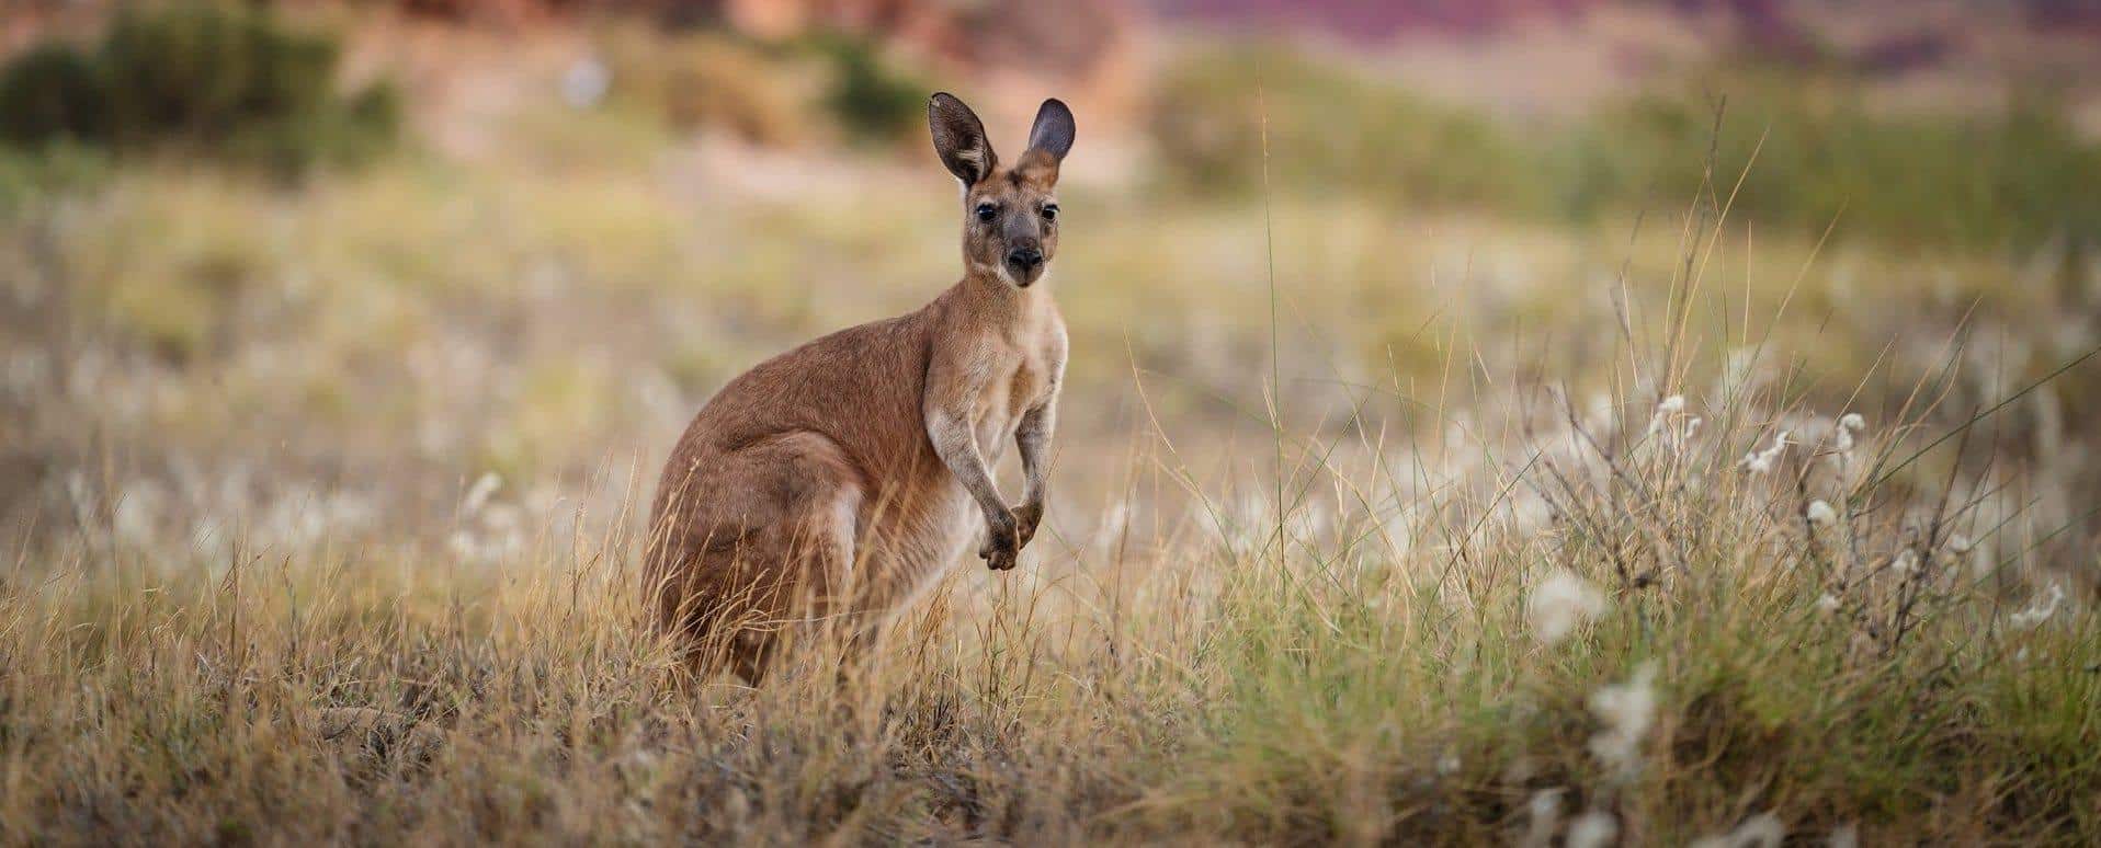
<instances>
[{"instance_id":1,"label":"entire out-of-focus background of field, shrubs and hillside behind the kangaroo","mask_svg":"<svg viewBox=\"0 0 2101 848\"><path fill-rule=\"evenodd\" d=\"M727 378L958 277L933 90L1008 155L1080 120L1067 544L1172 521L1168 445L1258 476L1275 351L1315 434L2011 399L1975 485L2095 565L2101 369L2021 393L2101 342L2082 0L8 0L0 527L502 563L635 521ZM1685 374L1616 384L1674 313Z\"/></svg>"}]
</instances>

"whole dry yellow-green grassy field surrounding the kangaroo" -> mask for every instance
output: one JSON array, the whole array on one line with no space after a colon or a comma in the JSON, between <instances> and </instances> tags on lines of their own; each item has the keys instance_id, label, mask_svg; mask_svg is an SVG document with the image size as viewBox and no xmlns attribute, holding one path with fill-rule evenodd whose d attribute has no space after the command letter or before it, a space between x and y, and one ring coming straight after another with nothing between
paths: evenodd
<instances>
[{"instance_id":1,"label":"whole dry yellow-green grassy field surrounding the kangaroo","mask_svg":"<svg viewBox=\"0 0 2101 848\"><path fill-rule=\"evenodd\" d=\"M2101 840L2090 260L1082 181L1048 531L752 691L639 504L954 187L490 120L8 197L0 842Z\"/></svg>"}]
</instances>

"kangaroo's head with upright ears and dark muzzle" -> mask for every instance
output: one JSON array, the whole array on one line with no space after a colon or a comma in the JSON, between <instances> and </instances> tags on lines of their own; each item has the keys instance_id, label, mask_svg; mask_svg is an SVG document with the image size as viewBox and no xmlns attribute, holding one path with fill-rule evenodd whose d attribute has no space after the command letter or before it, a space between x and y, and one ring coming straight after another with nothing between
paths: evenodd
<instances>
[{"instance_id":1,"label":"kangaroo's head with upright ears and dark muzzle","mask_svg":"<svg viewBox=\"0 0 2101 848\"><path fill-rule=\"evenodd\" d=\"M962 264L971 275L1029 288L1057 256L1057 166L1072 149L1072 109L1044 101L1029 149L1000 168L985 124L954 94L927 103L933 149L962 181Z\"/></svg>"}]
</instances>

